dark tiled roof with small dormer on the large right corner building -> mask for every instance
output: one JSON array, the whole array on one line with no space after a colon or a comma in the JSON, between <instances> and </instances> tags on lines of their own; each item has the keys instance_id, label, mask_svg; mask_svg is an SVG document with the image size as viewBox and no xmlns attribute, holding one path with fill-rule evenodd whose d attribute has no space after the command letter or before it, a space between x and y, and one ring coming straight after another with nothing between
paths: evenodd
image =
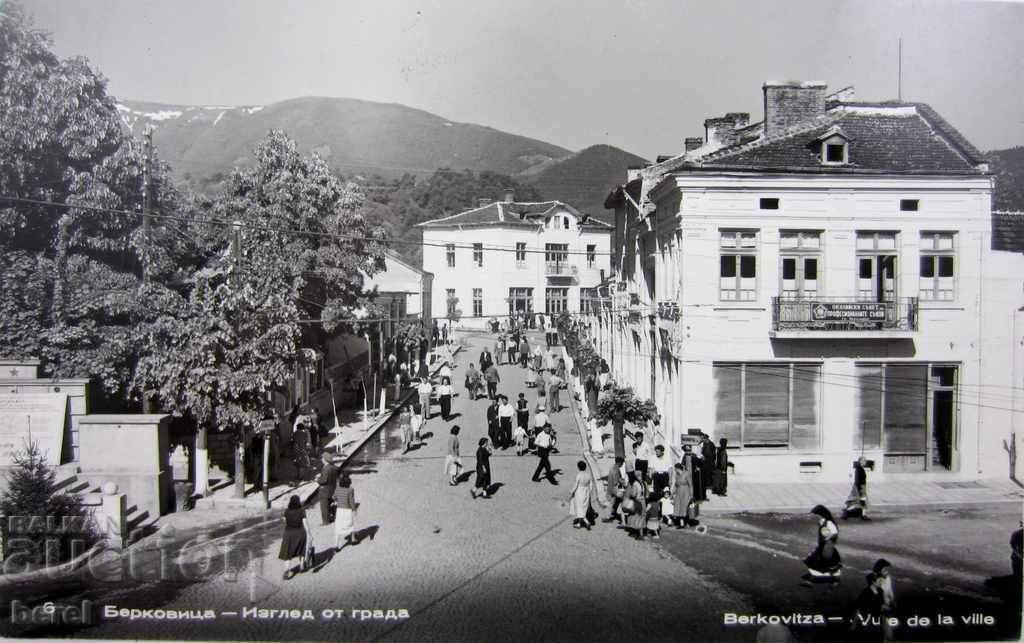
<instances>
[{"instance_id":1,"label":"dark tiled roof with small dormer on the large right corner building","mask_svg":"<svg viewBox=\"0 0 1024 643\"><path fill-rule=\"evenodd\" d=\"M822 165L820 139L842 131L849 163ZM909 102L831 103L821 117L767 138L761 124L742 130L740 141L720 149L697 148L650 168L758 169L819 173L983 174L984 157L929 105ZM659 173L660 173L659 172Z\"/></svg>"}]
</instances>

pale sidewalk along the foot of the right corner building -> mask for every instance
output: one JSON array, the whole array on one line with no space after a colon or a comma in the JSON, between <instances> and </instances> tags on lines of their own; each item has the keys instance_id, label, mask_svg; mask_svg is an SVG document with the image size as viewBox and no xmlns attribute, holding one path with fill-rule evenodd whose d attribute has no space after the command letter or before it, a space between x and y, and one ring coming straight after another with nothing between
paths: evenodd
<instances>
[{"instance_id":1,"label":"pale sidewalk along the foot of the right corner building","mask_svg":"<svg viewBox=\"0 0 1024 643\"><path fill-rule=\"evenodd\" d=\"M571 398L571 395L569 396ZM572 400L572 415L581 438L589 446L586 423L582 418L580 402ZM610 430L610 427L607 427ZM610 446L610 445L609 445ZM598 500L608 505L604 477L614 464L609 451L603 458L588 448L587 460L598 483ZM981 480L890 480L867 483L870 507L945 507L950 505L976 505L991 503L1024 503L1024 488L1012 480L987 478ZM804 513L814 505L840 508L850 492L850 482L763 482L729 476L728 496L709 496L700 505L701 513L782 512Z\"/></svg>"}]
</instances>

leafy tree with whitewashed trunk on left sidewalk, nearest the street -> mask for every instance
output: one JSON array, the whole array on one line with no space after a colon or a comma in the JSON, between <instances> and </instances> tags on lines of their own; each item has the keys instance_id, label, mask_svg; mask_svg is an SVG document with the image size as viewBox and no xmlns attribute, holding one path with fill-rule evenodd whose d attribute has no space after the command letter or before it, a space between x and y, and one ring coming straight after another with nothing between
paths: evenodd
<instances>
[{"instance_id":1,"label":"leafy tree with whitewashed trunk on left sidewalk, nearest the street","mask_svg":"<svg viewBox=\"0 0 1024 643\"><path fill-rule=\"evenodd\" d=\"M211 204L216 219L239 222L238 248L225 238L182 307L145 327L152 350L134 380L169 411L240 438L308 362L303 346L358 331L348 320L367 303L362 274L383 267L385 247L361 192L324 161L279 131L254 156Z\"/></svg>"}]
</instances>

